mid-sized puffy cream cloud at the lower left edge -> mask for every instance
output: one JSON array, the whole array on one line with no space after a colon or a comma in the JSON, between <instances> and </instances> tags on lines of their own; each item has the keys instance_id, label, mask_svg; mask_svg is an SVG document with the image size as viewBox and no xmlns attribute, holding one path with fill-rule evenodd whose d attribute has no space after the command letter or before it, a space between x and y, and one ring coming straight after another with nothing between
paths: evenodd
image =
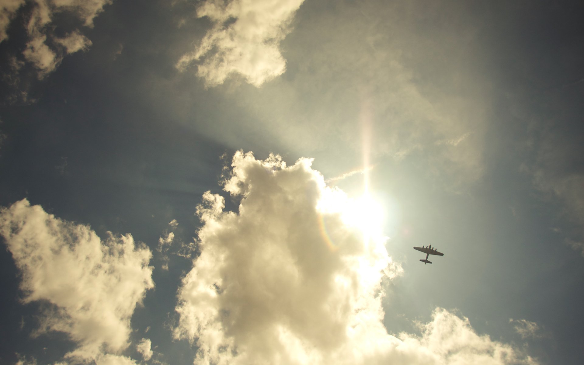
<instances>
[{"instance_id":1,"label":"mid-sized puffy cream cloud at the lower left edge","mask_svg":"<svg viewBox=\"0 0 584 365\"><path fill-rule=\"evenodd\" d=\"M129 234L102 240L26 199L1 208L0 234L22 273L23 302L50 303L36 335L67 333L77 348L66 357L112 363L102 353L126 349L134 308L154 287L150 250Z\"/></svg>"}]
</instances>

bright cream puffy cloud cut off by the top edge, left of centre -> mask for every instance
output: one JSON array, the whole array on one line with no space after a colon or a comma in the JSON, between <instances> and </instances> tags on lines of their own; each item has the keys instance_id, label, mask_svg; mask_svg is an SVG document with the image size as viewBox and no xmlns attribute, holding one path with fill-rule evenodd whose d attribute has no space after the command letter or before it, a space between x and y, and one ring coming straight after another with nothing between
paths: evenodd
<instances>
[{"instance_id":1,"label":"bright cream puffy cloud cut off by the top edge, left of centre","mask_svg":"<svg viewBox=\"0 0 584 365\"><path fill-rule=\"evenodd\" d=\"M202 61L197 75L207 86L223 84L231 74L242 75L260 86L283 74L286 61L280 42L291 31L290 22L304 0L208 0L197 8L213 27L196 50L184 54L176 64L185 71Z\"/></svg>"}]
</instances>

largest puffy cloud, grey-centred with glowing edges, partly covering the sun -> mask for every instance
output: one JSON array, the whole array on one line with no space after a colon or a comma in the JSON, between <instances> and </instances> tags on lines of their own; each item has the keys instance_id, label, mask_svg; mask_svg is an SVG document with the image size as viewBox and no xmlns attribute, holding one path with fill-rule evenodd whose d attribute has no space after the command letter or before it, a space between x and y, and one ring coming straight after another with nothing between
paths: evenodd
<instances>
[{"instance_id":1,"label":"largest puffy cloud, grey-centred with glowing edges, partly covering the sun","mask_svg":"<svg viewBox=\"0 0 584 365\"><path fill-rule=\"evenodd\" d=\"M536 364L442 308L421 335L390 335L381 283L401 266L385 238L365 240L343 219L354 205L311 162L239 151L224 183L238 213L204 194L201 253L179 288L174 332L196 342L195 364Z\"/></svg>"}]
</instances>

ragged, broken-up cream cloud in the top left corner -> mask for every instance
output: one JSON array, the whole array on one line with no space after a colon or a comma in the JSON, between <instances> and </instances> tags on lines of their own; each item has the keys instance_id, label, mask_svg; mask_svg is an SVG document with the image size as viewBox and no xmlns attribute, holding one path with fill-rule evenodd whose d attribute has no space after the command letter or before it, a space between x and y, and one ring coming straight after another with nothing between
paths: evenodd
<instances>
[{"instance_id":1,"label":"ragged, broken-up cream cloud in the top left corner","mask_svg":"<svg viewBox=\"0 0 584 365\"><path fill-rule=\"evenodd\" d=\"M5 0L0 5L0 42L8 39L9 25L19 9L22 0ZM93 19L103 11L103 6L112 0L34 0L25 25L29 40L22 55L34 65L39 78L53 72L62 58L80 50L88 50L92 42L79 29L72 29L63 37L54 34L53 18L56 13L68 13L86 27L93 27ZM15 69L18 71L18 69Z\"/></svg>"}]
</instances>

